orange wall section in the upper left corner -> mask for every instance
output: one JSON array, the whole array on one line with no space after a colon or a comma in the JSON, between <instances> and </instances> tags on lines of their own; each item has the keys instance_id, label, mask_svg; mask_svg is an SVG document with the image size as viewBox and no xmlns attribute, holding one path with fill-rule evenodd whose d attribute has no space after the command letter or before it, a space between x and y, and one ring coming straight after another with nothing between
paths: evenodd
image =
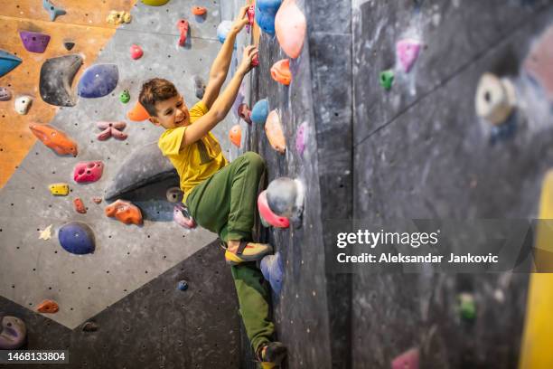
<instances>
[{"instance_id":1,"label":"orange wall section in the upper left corner","mask_svg":"<svg viewBox=\"0 0 553 369\"><path fill-rule=\"evenodd\" d=\"M42 8L40 0L19 0L3 4L0 10L0 49L12 52L23 62L0 78L0 86L8 87L13 98L0 101L0 188L4 187L14 169L18 166L35 142L28 129L29 122L48 123L57 109L42 101L39 94L39 76L42 62L47 58L80 53L84 65L80 74L98 56L98 52L116 31L116 26L108 24L106 17L111 10L130 11L136 0L59 0L54 5L67 11L67 14L50 21L50 15ZM46 52L27 52L19 37L19 31L33 31L49 34L52 39ZM68 52L64 40L75 43ZM14 110L14 99L18 95L33 97L33 106L24 116ZM70 108L66 108L70 109Z\"/></svg>"}]
</instances>

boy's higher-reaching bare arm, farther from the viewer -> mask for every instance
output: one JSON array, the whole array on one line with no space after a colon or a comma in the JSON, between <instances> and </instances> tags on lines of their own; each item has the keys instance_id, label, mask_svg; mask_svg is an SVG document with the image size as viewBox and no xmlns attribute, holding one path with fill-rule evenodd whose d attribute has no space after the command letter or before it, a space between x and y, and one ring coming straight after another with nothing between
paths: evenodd
<instances>
[{"instance_id":1,"label":"boy's higher-reaching bare arm, farther from the viewer","mask_svg":"<svg viewBox=\"0 0 553 369\"><path fill-rule=\"evenodd\" d=\"M240 12L230 28L229 34L227 34L227 39L220 48L213 64L211 64L210 80L208 81L202 98L203 103L208 109L211 109L211 105L219 96L220 87L227 79L236 35L246 24L248 24L248 16L246 16L248 13L248 7L249 5L240 8Z\"/></svg>"}]
</instances>

